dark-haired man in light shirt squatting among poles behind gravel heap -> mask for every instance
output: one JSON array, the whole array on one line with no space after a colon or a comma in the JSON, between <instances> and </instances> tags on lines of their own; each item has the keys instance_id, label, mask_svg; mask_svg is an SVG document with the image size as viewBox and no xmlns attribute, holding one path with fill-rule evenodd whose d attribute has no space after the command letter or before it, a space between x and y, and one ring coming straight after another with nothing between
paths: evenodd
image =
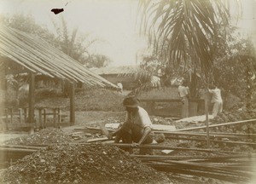
<instances>
[{"instance_id":1,"label":"dark-haired man in light shirt squatting among poles behind gravel heap","mask_svg":"<svg viewBox=\"0 0 256 184\"><path fill-rule=\"evenodd\" d=\"M154 132L152 123L143 107L139 106L139 100L135 96L126 97L123 101L126 110L125 122L119 124L119 128L108 135L112 139L115 135L114 142L131 143L130 148L125 151L132 152L132 147L139 147L142 144L150 144L154 141ZM152 154L150 149L140 149L140 154Z\"/></svg>"}]
</instances>

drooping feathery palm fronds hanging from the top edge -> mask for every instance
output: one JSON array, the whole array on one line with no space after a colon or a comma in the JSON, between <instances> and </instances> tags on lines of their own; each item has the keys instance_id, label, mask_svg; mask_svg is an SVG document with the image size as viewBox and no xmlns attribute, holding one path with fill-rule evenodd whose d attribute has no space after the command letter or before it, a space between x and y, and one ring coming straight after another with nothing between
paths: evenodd
<instances>
[{"instance_id":1,"label":"drooping feathery palm fronds hanging from the top edge","mask_svg":"<svg viewBox=\"0 0 256 184\"><path fill-rule=\"evenodd\" d=\"M224 0L141 0L141 32L165 55L166 68L183 66L211 79L219 32L230 24Z\"/></svg>"}]
</instances>

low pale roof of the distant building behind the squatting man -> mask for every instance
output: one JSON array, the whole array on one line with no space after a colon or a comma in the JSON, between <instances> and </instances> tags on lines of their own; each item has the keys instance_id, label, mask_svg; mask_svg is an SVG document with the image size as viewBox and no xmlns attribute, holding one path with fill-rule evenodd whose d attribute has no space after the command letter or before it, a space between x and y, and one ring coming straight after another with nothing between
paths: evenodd
<instances>
[{"instance_id":1,"label":"low pale roof of the distant building behind the squatting man","mask_svg":"<svg viewBox=\"0 0 256 184\"><path fill-rule=\"evenodd\" d=\"M96 74L128 74L137 72L137 66L107 66L102 68L91 68Z\"/></svg>"}]
</instances>

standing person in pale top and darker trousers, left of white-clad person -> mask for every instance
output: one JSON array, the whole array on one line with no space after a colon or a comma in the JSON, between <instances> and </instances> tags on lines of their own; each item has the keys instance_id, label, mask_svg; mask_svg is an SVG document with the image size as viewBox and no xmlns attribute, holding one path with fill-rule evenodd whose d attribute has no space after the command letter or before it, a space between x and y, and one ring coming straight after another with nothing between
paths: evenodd
<instances>
[{"instance_id":1,"label":"standing person in pale top and darker trousers, left of white-clad person","mask_svg":"<svg viewBox=\"0 0 256 184\"><path fill-rule=\"evenodd\" d=\"M181 82L177 88L178 95L182 101L182 118L189 117L189 87L186 81Z\"/></svg>"}]
</instances>

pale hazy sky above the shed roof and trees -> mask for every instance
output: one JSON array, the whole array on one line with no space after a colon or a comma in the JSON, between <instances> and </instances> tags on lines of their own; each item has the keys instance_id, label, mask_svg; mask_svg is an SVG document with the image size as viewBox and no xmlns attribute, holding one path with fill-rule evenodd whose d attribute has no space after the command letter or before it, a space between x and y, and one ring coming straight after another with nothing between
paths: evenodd
<instances>
[{"instance_id":1,"label":"pale hazy sky above the shed roof and trees","mask_svg":"<svg viewBox=\"0 0 256 184\"><path fill-rule=\"evenodd\" d=\"M256 0L240 2L243 14L236 26L242 32L254 32ZM79 27L79 32L102 40L90 48L91 52L107 55L113 66L123 66L136 64L137 51L147 49L146 37L139 36L136 23L137 3L138 0L0 0L0 14L32 14L49 29L53 29L50 19L60 21L62 15L71 30ZM55 8L64 12L50 12Z\"/></svg>"}]
</instances>

